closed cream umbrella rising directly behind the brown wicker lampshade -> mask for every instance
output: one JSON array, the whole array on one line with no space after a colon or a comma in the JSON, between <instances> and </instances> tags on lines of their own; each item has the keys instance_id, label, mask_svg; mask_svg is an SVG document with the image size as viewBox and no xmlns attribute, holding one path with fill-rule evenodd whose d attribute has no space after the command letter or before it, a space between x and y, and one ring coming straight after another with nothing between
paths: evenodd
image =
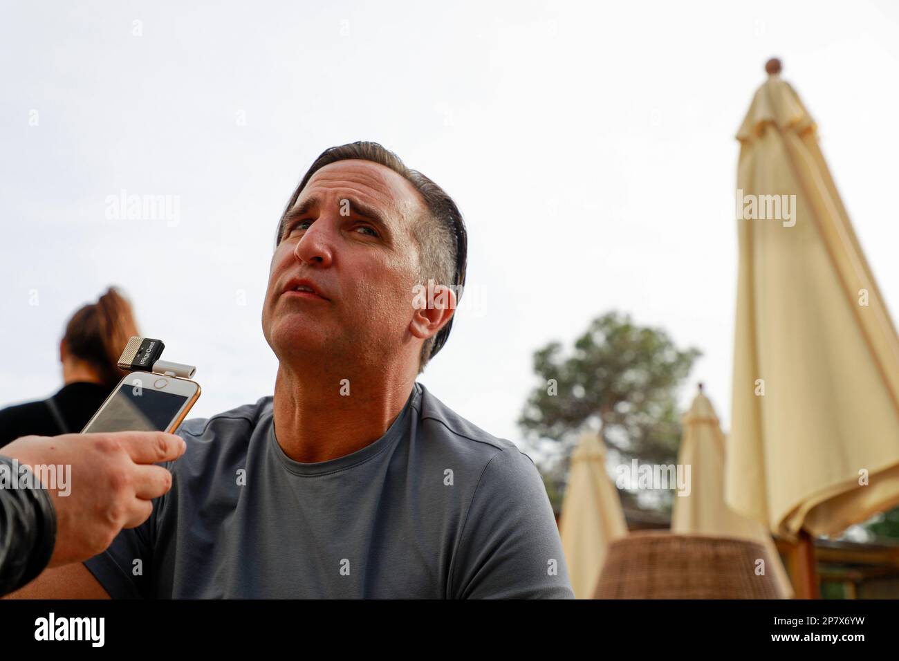
<instances>
[{"instance_id":1,"label":"closed cream umbrella rising directly behind the brown wicker lampshade","mask_svg":"<svg viewBox=\"0 0 899 661\"><path fill-rule=\"evenodd\" d=\"M690 489L685 489L682 495L675 492L673 496L672 532L760 542L769 556L765 572L774 577L785 597L792 598L793 585L768 528L737 514L725 503L725 436L715 408L702 393L701 385L690 410L683 416L682 429L678 464L690 466Z\"/></svg>"}]
</instances>

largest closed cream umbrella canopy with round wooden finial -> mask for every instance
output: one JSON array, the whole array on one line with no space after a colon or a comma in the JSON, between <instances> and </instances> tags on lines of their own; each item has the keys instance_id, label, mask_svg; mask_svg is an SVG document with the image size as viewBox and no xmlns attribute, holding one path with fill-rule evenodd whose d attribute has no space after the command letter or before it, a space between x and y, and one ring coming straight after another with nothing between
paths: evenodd
<instances>
[{"instance_id":1,"label":"largest closed cream umbrella canopy with round wooden finial","mask_svg":"<svg viewBox=\"0 0 899 661\"><path fill-rule=\"evenodd\" d=\"M814 121L777 60L768 71L737 134L725 496L795 539L803 528L838 533L899 503L899 339Z\"/></svg>"}]
</instances>

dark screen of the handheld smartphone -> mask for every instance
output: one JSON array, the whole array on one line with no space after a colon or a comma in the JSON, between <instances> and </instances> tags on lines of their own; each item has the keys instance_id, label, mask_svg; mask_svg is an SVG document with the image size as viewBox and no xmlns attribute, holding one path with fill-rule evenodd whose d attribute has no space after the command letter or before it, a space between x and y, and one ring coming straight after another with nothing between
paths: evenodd
<instances>
[{"instance_id":1,"label":"dark screen of the handheld smartphone","mask_svg":"<svg viewBox=\"0 0 899 661\"><path fill-rule=\"evenodd\" d=\"M187 397L123 384L93 423L85 428L92 432L162 432L173 421Z\"/></svg>"}]
</instances>

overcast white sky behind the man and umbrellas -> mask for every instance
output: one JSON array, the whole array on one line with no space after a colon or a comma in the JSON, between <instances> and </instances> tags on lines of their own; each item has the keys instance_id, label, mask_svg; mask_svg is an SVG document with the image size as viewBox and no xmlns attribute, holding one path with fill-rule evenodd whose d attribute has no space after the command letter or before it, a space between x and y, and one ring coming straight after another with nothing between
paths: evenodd
<instances>
[{"instance_id":1,"label":"overcast white sky behind the man and umbrellas","mask_svg":"<svg viewBox=\"0 0 899 661\"><path fill-rule=\"evenodd\" d=\"M681 400L704 381L726 428L734 133L772 55L899 310L895 3L2 7L0 406L61 386L67 318L111 283L198 366L191 416L271 394L277 219L325 147L371 139L467 220L437 397L520 441L533 351L619 309L704 352ZM179 222L107 219L122 190L173 196Z\"/></svg>"}]
</instances>

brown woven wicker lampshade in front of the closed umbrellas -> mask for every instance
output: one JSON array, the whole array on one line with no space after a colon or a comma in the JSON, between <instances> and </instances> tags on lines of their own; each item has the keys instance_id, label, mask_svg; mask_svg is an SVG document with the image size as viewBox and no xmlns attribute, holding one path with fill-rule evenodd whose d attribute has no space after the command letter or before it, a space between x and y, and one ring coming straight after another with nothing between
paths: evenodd
<instances>
[{"instance_id":1,"label":"brown woven wicker lampshade in front of the closed umbrellas","mask_svg":"<svg viewBox=\"0 0 899 661\"><path fill-rule=\"evenodd\" d=\"M756 574L758 560L764 575ZM632 532L611 542L594 599L783 599L760 543Z\"/></svg>"}]
</instances>

